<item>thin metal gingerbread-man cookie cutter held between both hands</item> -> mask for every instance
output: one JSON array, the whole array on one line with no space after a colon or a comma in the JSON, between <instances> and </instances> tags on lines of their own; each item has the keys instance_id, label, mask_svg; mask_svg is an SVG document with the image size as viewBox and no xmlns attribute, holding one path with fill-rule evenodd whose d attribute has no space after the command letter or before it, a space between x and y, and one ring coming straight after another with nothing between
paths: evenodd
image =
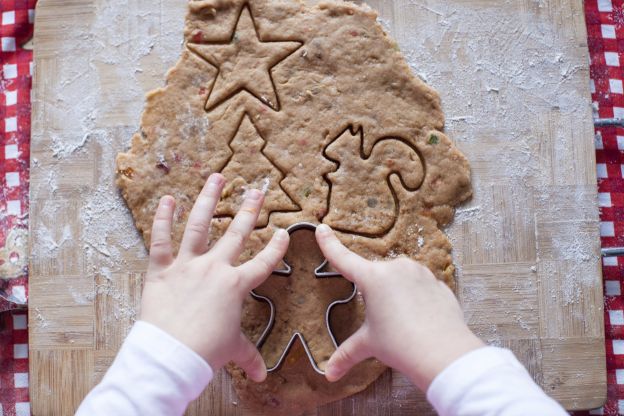
<instances>
[{"instance_id":1,"label":"thin metal gingerbread-man cookie cutter held between both hands","mask_svg":"<svg viewBox=\"0 0 624 416\"><path fill-rule=\"evenodd\" d=\"M286 229L286 231L288 231L288 234L293 234L295 231L299 231L299 230L302 230L302 229L315 231L316 230L316 225L311 224L311 223L307 223L307 222L299 222L299 223L293 224L290 227L288 227ZM317 279L331 278L331 277L342 277L342 275L340 273L337 273L337 272L323 272L323 271L321 271L321 270L323 270L323 268L325 266L327 266L327 264L328 264L328 262L327 262L327 260L325 260L325 261L323 261L323 263L321 263L320 266L318 266L316 269L314 269L314 276ZM290 276L292 274L292 267L288 263L286 263L285 260L284 260L284 265L286 266L285 269L275 270L275 271L273 271L273 274L276 274L278 276L284 276L284 277ZM330 338L332 340L332 343L334 344L334 348L338 348L338 343L336 342L336 337L334 336L334 333L331 330L331 325L329 323L329 315L330 315L331 310L332 310L332 308L334 306L341 305L341 304L344 304L344 303L348 303L348 302L351 302L351 300L353 300L353 298L357 294L357 288L355 287L355 284L352 283L352 285L353 285L353 292L351 292L351 295L348 298L332 302L327 307L327 310L325 311L325 326L326 326L327 332L329 333L329 336L330 336ZM264 344L264 342L266 341L269 333L271 332L271 330L273 329L273 326L275 324L275 304L273 303L273 301L271 301L271 299L267 298L266 296L261 296L261 295L257 294L256 292L254 292L253 290L251 291L251 296L254 299L256 299L256 300L260 300L260 301L264 301L264 302L268 303L269 307L271 308L271 316L269 318L269 323L266 326L266 328L264 329L264 331L262 332L262 335L260 335L260 339L258 339L258 342L256 342L256 347L258 349L260 349L262 347L262 345ZM282 365L282 363L284 362L284 359L286 358L286 356L288 355L288 352L293 347L293 345L294 345L294 343L295 343L297 338L299 338L299 340L301 341L301 344L303 345L303 349L305 350L305 353L308 356L308 360L310 361L310 364L312 364L312 368L314 368L314 371L316 371L318 374L325 375L325 371L323 371L323 370L321 370L319 368L318 364L314 360L314 357L312 356L312 352L310 351L310 347L308 347L308 343L306 342L305 338L303 337L303 334L301 332L299 332L299 331L296 331L293 334L293 336L288 341L288 344L286 344L286 347L282 351L282 354L280 355L279 359L277 360L277 363L273 367L267 368L267 371L268 372L276 371Z\"/></svg>"}]
</instances>

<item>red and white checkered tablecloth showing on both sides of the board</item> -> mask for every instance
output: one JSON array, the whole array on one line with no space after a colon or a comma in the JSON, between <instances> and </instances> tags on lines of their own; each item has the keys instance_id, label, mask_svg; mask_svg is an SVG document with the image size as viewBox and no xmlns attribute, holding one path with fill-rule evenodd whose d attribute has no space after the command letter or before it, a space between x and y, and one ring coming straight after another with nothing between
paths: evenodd
<instances>
[{"instance_id":1,"label":"red and white checkered tablecloth showing on both sides of the board","mask_svg":"<svg viewBox=\"0 0 624 416\"><path fill-rule=\"evenodd\" d=\"M32 53L22 45L32 36L35 3L0 1L0 248L28 213ZM592 99L599 117L624 118L624 0L586 0L585 14ZM599 128L595 140L602 244L624 246L624 128ZM605 259L604 279L608 401L578 415L624 414L624 257ZM26 283L27 276L16 279L9 291L27 296ZM25 312L0 314L0 416L30 414L26 325Z\"/></svg>"}]
</instances>

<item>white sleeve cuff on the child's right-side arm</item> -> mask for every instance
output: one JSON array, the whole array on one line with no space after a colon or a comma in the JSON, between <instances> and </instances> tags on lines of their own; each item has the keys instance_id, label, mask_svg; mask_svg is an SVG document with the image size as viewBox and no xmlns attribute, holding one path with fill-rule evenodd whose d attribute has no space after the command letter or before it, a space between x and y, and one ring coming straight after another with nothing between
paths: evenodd
<instances>
[{"instance_id":1,"label":"white sleeve cuff on the child's right-side arm","mask_svg":"<svg viewBox=\"0 0 624 416\"><path fill-rule=\"evenodd\" d=\"M483 347L433 380L427 399L440 416L568 416L509 350Z\"/></svg>"}]
</instances>

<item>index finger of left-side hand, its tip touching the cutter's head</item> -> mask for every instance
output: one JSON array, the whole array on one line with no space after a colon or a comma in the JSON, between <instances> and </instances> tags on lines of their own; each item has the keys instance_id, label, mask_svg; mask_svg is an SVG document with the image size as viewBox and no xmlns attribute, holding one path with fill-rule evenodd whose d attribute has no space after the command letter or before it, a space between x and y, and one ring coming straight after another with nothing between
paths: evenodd
<instances>
[{"instance_id":1,"label":"index finger of left-side hand, its tip touching the cutter's head","mask_svg":"<svg viewBox=\"0 0 624 416\"><path fill-rule=\"evenodd\" d=\"M290 241L288 232L279 229L273 234L271 241L260 253L247 263L239 266L239 270L247 284L247 292L260 286L262 282L275 270L275 267L284 258Z\"/></svg>"}]
</instances>

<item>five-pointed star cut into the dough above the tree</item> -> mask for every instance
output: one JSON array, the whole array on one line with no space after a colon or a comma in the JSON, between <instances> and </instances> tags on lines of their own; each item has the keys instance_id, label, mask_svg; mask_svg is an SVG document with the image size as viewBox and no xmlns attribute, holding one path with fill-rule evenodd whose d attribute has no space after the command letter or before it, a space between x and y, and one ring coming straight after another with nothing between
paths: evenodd
<instances>
[{"instance_id":1,"label":"five-pointed star cut into the dough above the tree","mask_svg":"<svg viewBox=\"0 0 624 416\"><path fill-rule=\"evenodd\" d=\"M301 47L301 42L262 42L248 6L242 8L227 43L188 43L188 48L218 69L208 93L206 111L247 91L275 111L280 104L271 69Z\"/></svg>"}]
</instances>

